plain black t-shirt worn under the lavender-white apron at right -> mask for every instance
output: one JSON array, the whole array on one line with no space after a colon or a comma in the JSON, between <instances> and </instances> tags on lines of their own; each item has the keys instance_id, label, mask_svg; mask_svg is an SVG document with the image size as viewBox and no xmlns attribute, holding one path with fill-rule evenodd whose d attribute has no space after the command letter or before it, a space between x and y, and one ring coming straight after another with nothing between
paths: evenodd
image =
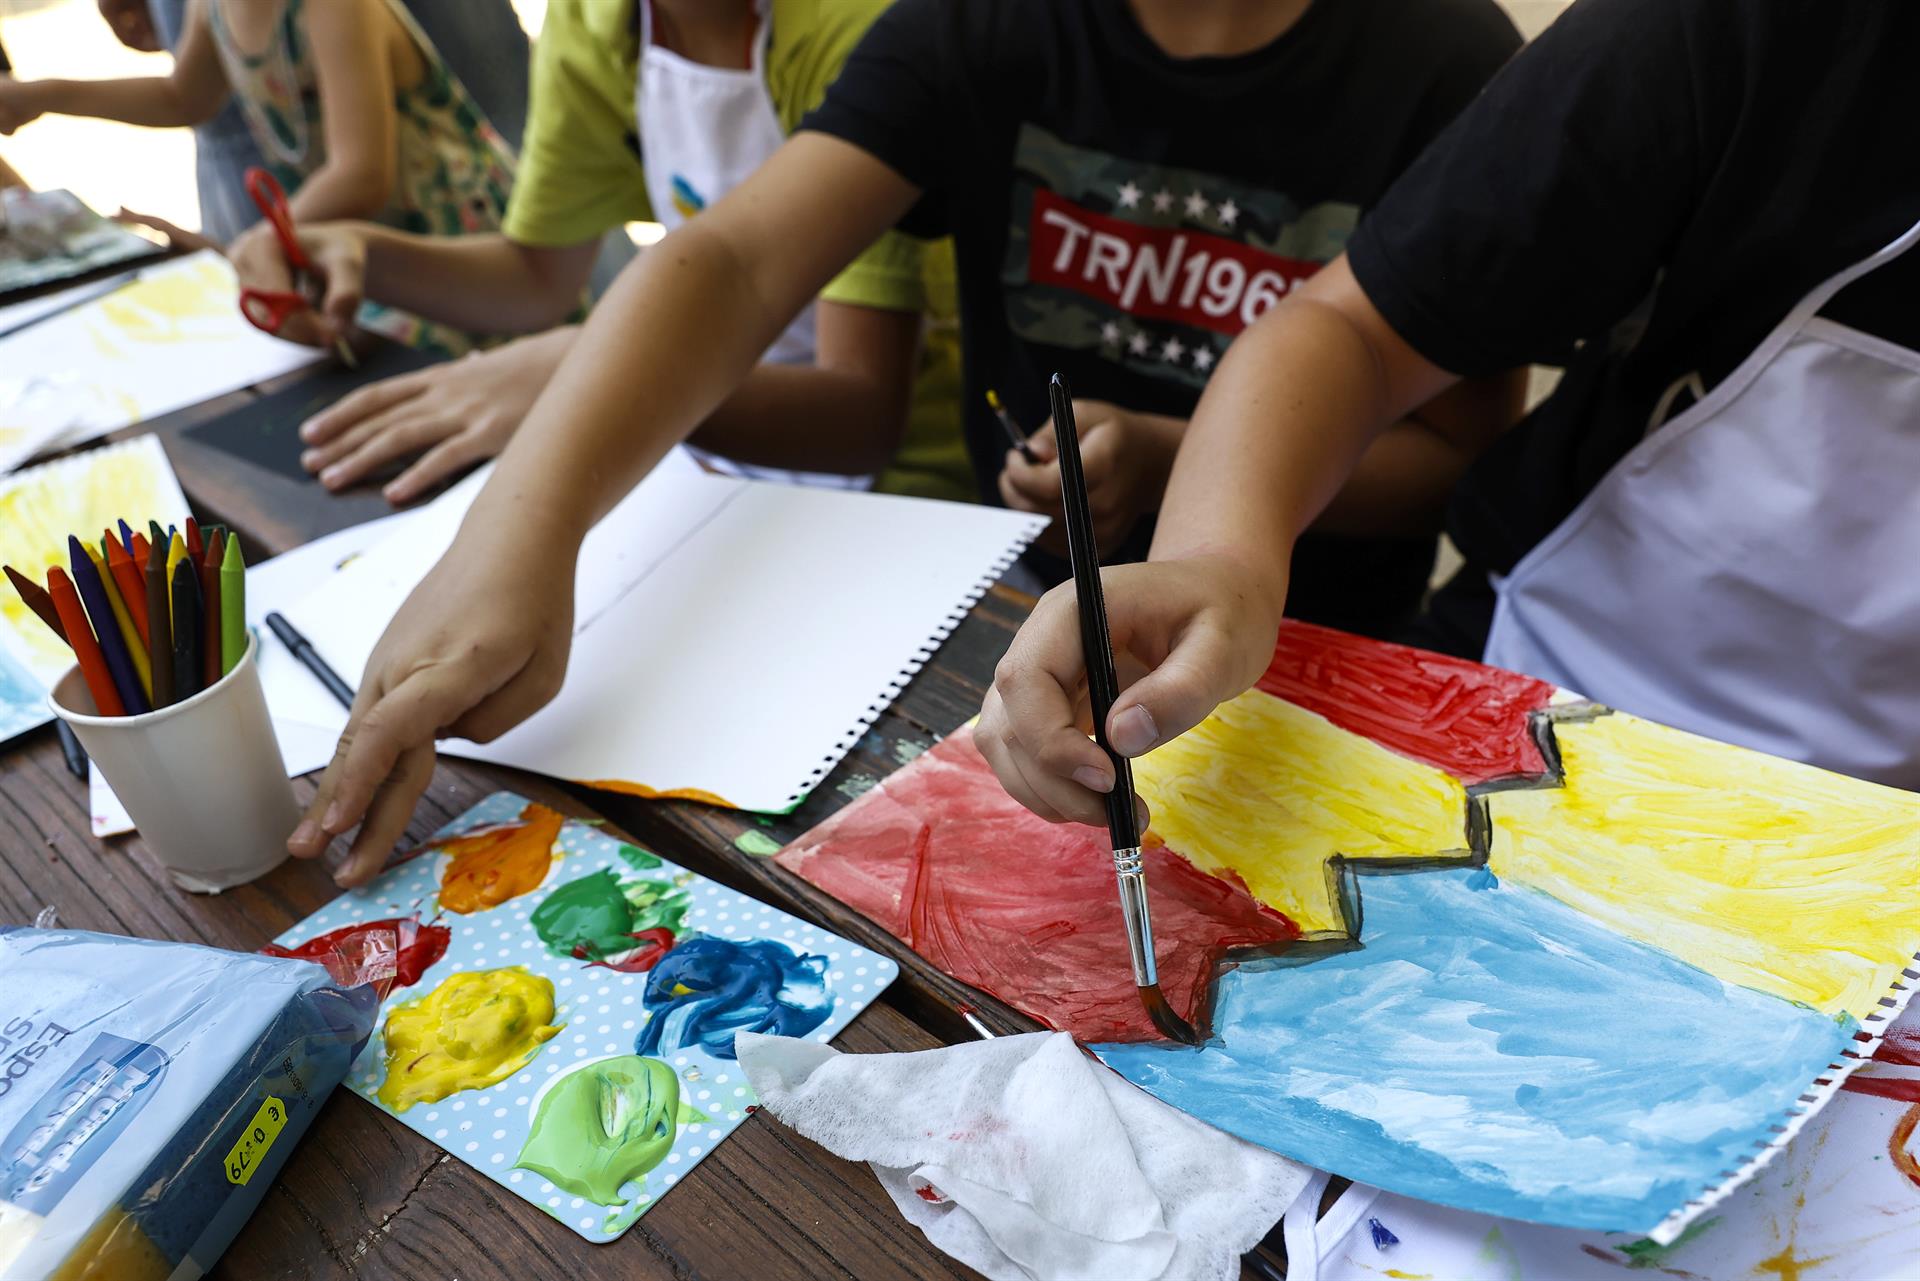
<instances>
[{"instance_id":1,"label":"plain black t-shirt worn under the lavender-white apron at right","mask_svg":"<svg viewBox=\"0 0 1920 1281\"><path fill-rule=\"evenodd\" d=\"M1920 6L1580 0L1361 221L1350 261L1415 350L1461 375L1567 376L1467 474L1469 559L1434 636L1484 641L1509 570L1649 430L1793 303L1920 219ZM1824 315L1920 348L1920 255ZM1692 403L1680 394L1676 409ZM1670 417L1676 409L1670 409ZM1868 430L1868 424L1862 424ZM1476 634L1473 634L1476 632Z\"/></svg>"}]
</instances>

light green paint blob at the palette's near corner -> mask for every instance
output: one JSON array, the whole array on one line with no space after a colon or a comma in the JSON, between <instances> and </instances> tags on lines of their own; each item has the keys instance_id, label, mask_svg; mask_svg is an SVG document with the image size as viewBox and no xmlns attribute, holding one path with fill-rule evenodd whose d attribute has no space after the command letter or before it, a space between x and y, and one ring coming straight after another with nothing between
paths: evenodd
<instances>
[{"instance_id":1,"label":"light green paint blob at the palette's near corner","mask_svg":"<svg viewBox=\"0 0 1920 1281\"><path fill-rule=\"evenodd\" d=\"M515 1166L597 1206L618 1206L622 1187L666 1160L678 1114L672 1068L637 1054L603 1058L555 1081Z\"/></svg>"}]
</instances>

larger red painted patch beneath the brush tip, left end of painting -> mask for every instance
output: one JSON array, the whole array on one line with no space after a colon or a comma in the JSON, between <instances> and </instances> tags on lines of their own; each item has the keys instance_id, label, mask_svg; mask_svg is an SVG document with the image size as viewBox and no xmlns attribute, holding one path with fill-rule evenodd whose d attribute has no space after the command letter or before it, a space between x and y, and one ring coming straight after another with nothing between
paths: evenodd
<instances>
[{"instance_id":1,"label":"larger red painted patch beneath the brush tip, left end of painting","mask_svg":"<svg viewBox=\"0 0 1920 1281\"><path fill-rule=\"evenodd\" d=\"M964 983L1081 1041L1160 1041L1133 985L1106 832L1014 803L960 730L776 855ZM1208 1026L1231 947L1300 930L1238 882L1146 851L1160 985Z\"/></svg>"}]
</instances>

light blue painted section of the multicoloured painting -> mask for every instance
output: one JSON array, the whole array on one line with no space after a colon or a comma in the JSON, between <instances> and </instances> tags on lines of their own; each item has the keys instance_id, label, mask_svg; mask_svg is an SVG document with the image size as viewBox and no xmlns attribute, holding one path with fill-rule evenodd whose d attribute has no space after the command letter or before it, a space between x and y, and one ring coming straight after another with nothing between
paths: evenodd
<instances>
[{"instance_id":1,"label":"light blue painted section of the multicoloured painting","mask_svg":"<svg viewBox=\"0 0 1920 1281\"><path fill-rule=\"evenodd\" d=\"M1363 947L1227 974L1206 1049L1094 1051L1361 1183L1647 1231L1745 1164L1855 1031L1473 868L1359 887Z\"/></svg>"}]
</instances>

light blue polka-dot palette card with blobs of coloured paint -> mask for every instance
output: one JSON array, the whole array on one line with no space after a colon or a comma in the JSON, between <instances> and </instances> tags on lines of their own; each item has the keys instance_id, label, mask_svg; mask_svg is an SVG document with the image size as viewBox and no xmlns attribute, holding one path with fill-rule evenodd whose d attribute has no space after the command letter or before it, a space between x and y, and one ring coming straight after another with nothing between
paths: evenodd
<instances>
[{"instance_id":1,"label":"light blue polka-dot palette card with blobs of coloured paint","mask_svg":"<svg viewBox=\"0 0 1920 1281\"><path fill-rule=\"evenodd\" d=\"M507 791L276 943L392 972L348 1087L588 1241L745 1120L735 1031L829 1041L899 974Z\"/></svg>"}]
</instances>

